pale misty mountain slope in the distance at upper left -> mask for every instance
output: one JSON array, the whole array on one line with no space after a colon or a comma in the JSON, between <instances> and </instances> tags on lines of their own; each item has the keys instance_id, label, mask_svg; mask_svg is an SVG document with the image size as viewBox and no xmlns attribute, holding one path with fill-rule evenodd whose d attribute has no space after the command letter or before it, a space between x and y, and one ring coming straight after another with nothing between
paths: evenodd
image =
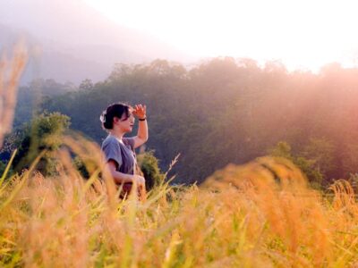
<instances>
[{"instance_id":1,"label":"pale misty mountain slope in the distance at upper left","mask_svg":"<svg viewBox=\"0 0 358 268\"><path fill-rule=\"evenodd\" d=\"M156 38L118 26L80 0L1 1L0 48L19 37L30 47L21 83L44 78L78 84L105 79L115 63L190 60Z\"/></svg>"}]
</instances>

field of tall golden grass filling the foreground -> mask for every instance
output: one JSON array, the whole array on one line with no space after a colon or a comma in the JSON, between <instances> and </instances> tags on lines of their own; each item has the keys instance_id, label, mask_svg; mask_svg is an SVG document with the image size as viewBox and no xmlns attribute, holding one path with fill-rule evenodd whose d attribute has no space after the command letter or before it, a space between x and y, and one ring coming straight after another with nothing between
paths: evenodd
<instances>
[{"instance_id":1,"label":"field of tall golden grass filling the foreground","mask_svg":"<svg viewBox=\"0 0 358 268\"><path fill-rule=\"evenodd\" d=\"M68 140L69 147L75 143ZM139 202L116 198L96 168L82 180L67 153L58 157L57 178L26 171L0 186L1 266L345 267L358 261L352 188L338 181L328 200L284 159L227 166L200 188L163 184Z\"/></svg>"}]
</instances>

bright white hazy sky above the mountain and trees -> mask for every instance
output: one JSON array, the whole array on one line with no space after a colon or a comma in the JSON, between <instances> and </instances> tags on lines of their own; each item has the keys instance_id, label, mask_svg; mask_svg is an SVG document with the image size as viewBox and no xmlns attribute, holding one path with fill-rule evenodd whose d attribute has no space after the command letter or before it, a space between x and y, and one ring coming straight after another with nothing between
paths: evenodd
<instances>
[{"instance_id":1,"label":"bright white hazy sky above the mountain and trees","mask_svg":"<svg viewBox=\"0 0 358 268\"><path fill-rule=\"evenodd\" d=\"M83 1L195 57L250 57L312 71L358 64L356 1Z\"/></svg>"}]
</instances>

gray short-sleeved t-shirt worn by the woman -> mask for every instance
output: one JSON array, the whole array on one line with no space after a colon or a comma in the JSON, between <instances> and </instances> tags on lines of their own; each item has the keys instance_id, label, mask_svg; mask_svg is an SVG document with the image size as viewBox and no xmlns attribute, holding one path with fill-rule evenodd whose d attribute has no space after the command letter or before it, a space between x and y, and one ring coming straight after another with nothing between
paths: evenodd
<instances>
[{"instance_id":1,"label":"gray short-sleeved t-shirt worn by the woman","mask_svg":"<svg viewBox=\"0 0 358 268\"><path fill-rule=\"evenodd\" d=\"M133 175L135 173L134 138L122 138L120 141L112 135L108 135L102 142L102 152L106 163L113 160L116 163L116 171Z\"/></svg>"}]
</instances>

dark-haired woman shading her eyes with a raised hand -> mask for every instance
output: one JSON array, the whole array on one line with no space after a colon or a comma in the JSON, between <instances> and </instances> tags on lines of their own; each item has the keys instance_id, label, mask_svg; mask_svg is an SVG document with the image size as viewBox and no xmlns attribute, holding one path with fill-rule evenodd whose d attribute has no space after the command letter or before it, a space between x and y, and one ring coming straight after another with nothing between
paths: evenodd
<instances>
[{"instance_id":1,"label":"dark-haired woman shading her eyes with a raised hand","mask_svg":"<svg viewBox=\"0 0 358 268\"><path fill-rule=\"evenodd\" d=\"M145 193L145 180L136 172L137 161L134 149L141 147L148 140L146 105L125 105L115 103L109 105L100 116L102 127L108 136L102 142L101 150L107 168L122 188L121 196L131 192L132 184L136 183L139 196ZM132 131L134 117L139 120L137 136L124 138L124 134Z\"/></svg>"}]
</instances>

